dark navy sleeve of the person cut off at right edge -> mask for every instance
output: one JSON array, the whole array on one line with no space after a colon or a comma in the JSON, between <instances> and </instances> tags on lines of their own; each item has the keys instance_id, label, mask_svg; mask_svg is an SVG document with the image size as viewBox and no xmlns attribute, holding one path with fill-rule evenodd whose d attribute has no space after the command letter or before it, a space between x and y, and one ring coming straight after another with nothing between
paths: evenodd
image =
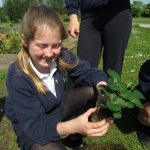
<instances>
[{"instance_id":1,"label":"dark navy sleeve of the person cut off at right edge","mask_svg":"<svg viewBox=\"0 0 150 150\"><path fill-rule=\"evenodd\" d=\"M139 72L139 84L136 87L150 102L150 60L145 61Z\"/></svg>"}]
</instances>

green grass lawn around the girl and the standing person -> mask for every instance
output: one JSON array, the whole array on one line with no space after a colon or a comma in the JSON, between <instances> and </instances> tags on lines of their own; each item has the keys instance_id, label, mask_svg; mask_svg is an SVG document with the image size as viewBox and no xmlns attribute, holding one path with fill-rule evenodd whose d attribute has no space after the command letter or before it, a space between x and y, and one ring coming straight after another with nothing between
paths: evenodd
<instances>
[{"instance_id":1,"label":"green grass lawn around the girl and the standing person","mask_svg":"<svg viewBox=\"0 0 150 150\"><path fill-rule=\"evenodd\" d=\"M150 28L140 27L138 24L150 24L150 18L133 18L133 28L128 47L125 53L122 80L129 83L131 78L138 79L138 72L141 64L150 58ZM102 60L99 68L102 66ZM7 95L6 72L0 72L0 149L18 150L16 136L11 124L4 115L4 102ZM144 147L137 139L135 117L128 109L123 110L123 117L114 121L108 132L103 137L84 137L89 145L86 150L101 150L102 143L114 144L124 147L124 150L150 150ZM71 150L65 138L62 138L68 150ZM94 148L92 148L92 146ZM114 150L117 150L117 147ZM104 150L104 149L103 149ZM107 149L109 150L109 149ZM121 150L121 149L118 149Z\"/></svg>"}]
</instances>

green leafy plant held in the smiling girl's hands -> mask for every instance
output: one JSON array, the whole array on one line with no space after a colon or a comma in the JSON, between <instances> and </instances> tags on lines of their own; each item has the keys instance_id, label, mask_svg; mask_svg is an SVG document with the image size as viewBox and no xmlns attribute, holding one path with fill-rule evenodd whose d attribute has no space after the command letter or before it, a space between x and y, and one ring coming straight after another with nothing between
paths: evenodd
<instances>
[{"instance_id":1,"label":"green leafy plant held in the smiling girl's hands","mask_svg":"<svg viewBox=\"0 0 150 150\"><path fill-rule=\"evenodd\" d=\"M107 100L100 100L100 107L107 107L114 118L122 117L122 108L133 108L134 106L143 108L140 100L144 99L144 96L134 89L134 80L126 85L114 70L108 70L108 74L110 76L108 85L100 86L100 92L106 95Z\"/></svg>"}]
</instances>

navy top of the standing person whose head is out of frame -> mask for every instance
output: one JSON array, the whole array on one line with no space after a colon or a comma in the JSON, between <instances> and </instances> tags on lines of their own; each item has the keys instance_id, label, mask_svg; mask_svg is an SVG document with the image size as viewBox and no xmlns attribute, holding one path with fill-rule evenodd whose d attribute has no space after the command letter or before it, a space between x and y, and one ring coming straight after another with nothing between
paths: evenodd
<instances>
[{"instance_id":1,"label":"navy top of the standing person whose head is out of frame","mask_svg":"<svg viewBox=\"0 0 150 150\"><path fill-rule=\"evenodd\" d=\"M81 18L89 18L100 15L110 10L121 11L130 9L130 0L65 0L68 15L78 14L81 11Z\"/></svg>"}]
</instances>

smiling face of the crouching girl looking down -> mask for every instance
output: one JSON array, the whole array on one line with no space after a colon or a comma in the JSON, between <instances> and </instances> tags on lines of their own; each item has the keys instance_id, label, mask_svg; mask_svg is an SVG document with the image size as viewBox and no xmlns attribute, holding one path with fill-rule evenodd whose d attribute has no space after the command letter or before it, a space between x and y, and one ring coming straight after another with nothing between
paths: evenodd
<instances>
[{"instance_id":1,"label":"smiling face of the crouching girl looking down","mask_svg":"<svg viewBox=\"0 0 150 150\"><path fill-rule=\"evenodd\" d=\"M29 45L26 45L23 38L22 41L24 46L28 47L35 68L40 73L49 73L52 62L61 52L62 39L58 31L50 29L47 25L44 25L43 29L35 33L35 38Z\"/></svg>"}]
</instances>

